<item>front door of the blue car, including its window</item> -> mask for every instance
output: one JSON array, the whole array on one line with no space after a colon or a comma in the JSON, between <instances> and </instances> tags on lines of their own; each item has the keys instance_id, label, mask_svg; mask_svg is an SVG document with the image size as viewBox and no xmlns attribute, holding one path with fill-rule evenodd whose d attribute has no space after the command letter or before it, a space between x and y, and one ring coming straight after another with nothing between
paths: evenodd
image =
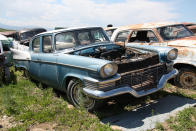
<instances>
[{"instance_id":1,"label":"front door of the blue car, including its window","mask_svg":"<svg viewBox=\"0 0 196 131\"><path fill-rule=\"evenodd\" d=\"M47 85L56 87L58 85L57 56L54 53L52 35L42 36L41 41L42 47L39 54L41 81Z\"/></svg>"}]
</instances>

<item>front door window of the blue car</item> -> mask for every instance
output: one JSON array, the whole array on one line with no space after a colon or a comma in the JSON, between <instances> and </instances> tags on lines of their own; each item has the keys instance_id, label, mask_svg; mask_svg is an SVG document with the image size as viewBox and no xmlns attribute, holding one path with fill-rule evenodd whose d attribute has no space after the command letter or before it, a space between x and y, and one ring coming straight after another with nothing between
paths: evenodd
<instances>
[{"instance_id":1,"label":"front door window of the blue car","mask_svg":"<svg viewBox=\"0 0 196 131\"><path fill-rule=\"evenodd\" d=\"M52 49L52 36L43 36L42 47L44 53L51 53Z\"/></svg>"}]
</instances>

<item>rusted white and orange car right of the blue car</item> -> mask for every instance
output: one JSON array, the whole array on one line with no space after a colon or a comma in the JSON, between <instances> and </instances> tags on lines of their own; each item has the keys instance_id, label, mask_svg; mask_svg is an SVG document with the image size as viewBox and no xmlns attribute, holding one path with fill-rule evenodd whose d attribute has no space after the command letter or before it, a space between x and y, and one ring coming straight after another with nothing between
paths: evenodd
<instances>
[{"instance_id":1,"label":"rusted white and orange car right of the blue car","mask_svg":"<svg viewBox=\"0 0 196 131\"><path fill-rule=\"evenodd\" d=\"M128 38L128 39L127 39ZM175 83L196 87L196 36L183 24L146 23L118 28L111 40L117 44L170 46L179 51L174 67L179 70Z\"/></svg>"}]
</instances>

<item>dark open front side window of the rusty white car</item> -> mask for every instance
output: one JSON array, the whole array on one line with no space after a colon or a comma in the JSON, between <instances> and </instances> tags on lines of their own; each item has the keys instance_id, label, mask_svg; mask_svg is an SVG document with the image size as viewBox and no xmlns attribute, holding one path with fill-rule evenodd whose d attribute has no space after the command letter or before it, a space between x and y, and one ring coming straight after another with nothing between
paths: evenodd
<instances>
[{"instance_id":1,"label":"dark open front side window of the rusty white car","mask_svg":"<svg viewBox=\"0 0 196 131\"><path fill-rule=\"evenodd\" d=\"M158 39L151 30L140 30L132 32L129 42L153 43L158 42Z\"/></svg>"}]
</instances>

